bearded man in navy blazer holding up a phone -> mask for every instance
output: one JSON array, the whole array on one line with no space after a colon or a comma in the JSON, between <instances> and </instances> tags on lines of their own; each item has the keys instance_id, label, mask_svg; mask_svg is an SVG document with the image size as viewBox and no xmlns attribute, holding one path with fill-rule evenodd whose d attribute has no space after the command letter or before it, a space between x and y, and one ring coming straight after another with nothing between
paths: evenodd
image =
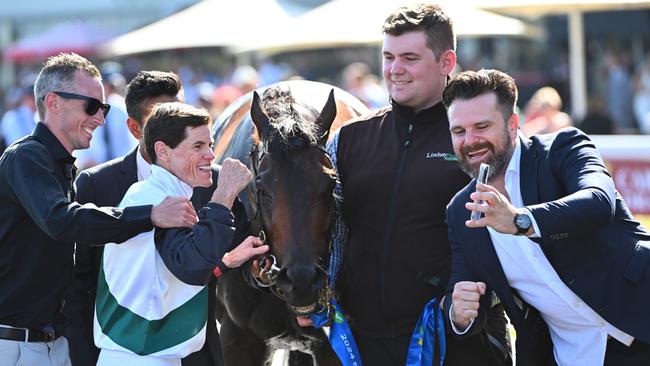
<instances>
[{"instance_id":1,"label":"bearded man in navy blazer holding up a phone","mask_svg":"<svg viewBox=\"0 0 650 366\"><path fill-rule=\"evenodd\" d=\"M484 326L492 290L517 332L518 365L650 364L650 233L588 136L528 139L516 100L496 70L460 73L443 93L459 164L474 178L490 166L487 184L473 180L447 207L452 332Z\"/></svg>"}]
</instances>

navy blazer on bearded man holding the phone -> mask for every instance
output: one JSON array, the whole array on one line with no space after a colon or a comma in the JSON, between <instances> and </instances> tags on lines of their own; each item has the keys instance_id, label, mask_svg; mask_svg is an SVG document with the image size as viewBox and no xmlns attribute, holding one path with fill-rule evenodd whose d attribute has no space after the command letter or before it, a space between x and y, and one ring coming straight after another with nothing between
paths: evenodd
<instances>
[{"instance_id":1,"label":"navy blazer on bearded man holding the phone","mask_svg":"<svg viewBox=\"0 0 650 366\"><path fill-rule=\"evenodd\" d=\"M541 231L534 241L586 304L650 343L650 233L632 217L595 145L575 128L531 139L520 135L519 142L521 195ZM551 349L544 349L551 346L548 330L535 309L515 301L487 229L465 226L470 216L465 202L475 190L473 180L447 207L452 269L445 309L456 282L485 282L517 330L517 364L552 364ZM482 326L488 301L483 296L468 334Z\"/></svg>"}]
</instances>

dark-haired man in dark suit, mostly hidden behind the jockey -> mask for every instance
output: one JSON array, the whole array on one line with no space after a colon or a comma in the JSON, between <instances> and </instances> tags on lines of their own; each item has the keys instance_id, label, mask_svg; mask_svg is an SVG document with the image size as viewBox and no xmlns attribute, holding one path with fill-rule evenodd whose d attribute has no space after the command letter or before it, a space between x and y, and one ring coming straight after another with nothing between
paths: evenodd
<instances>
[{"instance_id":1,"label":"dark-haired man in dark suit, mostly hidden behind the jockey","mask_svg":"<svg viewBox=\"0 0 650 366\"><path fill-rule=\"evenodd\" d=\"M79 173L75 187L79 203L92 202L101 206L117 206L129 187L149 176L150 160L144 149L144 121L157 103L182 101L180 79L171 72L141 71L127 86L126 104L131 134L140 141L128 155L113 159ZM212 196L217 184L218 171L213 167L213 185L196 187L190 201L198 210ZM245 210L238 200L233 204L236 232L233 243L239 244L249 232ZM63 309L65 328L63 335L69 343L72 365L94 365L99 350L93 343L93 314L97 275L103 246L77 246L74 277L68 287ZM225 271L225 268L221 270ZM219 334L216 328L216 281L209 283L209 319L204 347L182 360L184 366L220 365L222 361Z\"/></svg>"}]
</instances>

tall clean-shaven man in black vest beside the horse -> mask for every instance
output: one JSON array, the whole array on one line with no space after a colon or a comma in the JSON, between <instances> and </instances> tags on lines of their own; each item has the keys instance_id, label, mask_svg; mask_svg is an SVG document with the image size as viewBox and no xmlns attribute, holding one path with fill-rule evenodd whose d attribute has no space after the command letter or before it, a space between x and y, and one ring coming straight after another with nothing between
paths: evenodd
<instances>
[{"instance_id":1,"label":"tall clean-shaven man in black vest beside the horse","mask_svg":"<svg viewBox=\"0 0 650 366\"><path fill-rule=\"evenodd\" d=\"M425 304L443 296L451 263L445 207L469 181L441 103L456 64L449 17L436 5L401 7L383 31L391 105L344 125L328 145L342 197L330 277L371 366L404 365ZM491 336L448 337L446 365L511 364L503 310L492 311Z\"/></svg>"}]
</instances>

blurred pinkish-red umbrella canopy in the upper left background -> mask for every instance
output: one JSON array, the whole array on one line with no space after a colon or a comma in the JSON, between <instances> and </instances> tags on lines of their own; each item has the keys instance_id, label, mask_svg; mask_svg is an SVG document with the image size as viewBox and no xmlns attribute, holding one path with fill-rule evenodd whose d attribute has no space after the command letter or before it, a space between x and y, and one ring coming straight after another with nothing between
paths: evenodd
<instances>
[{"instance_id":1,"label":"blurred pinkish-red umbrella canopy in the upper left background","mask_svg":"<svg viewBox=\"0 0 650 366\"><path fill-rule=\"evenodd\" d=\"M89 56L97 46L116 35L95 24L82 21L58 24L43 33L18 40L7 47L4 58L13 62L39 62L60 52Z\"/></svg>"}]
</instances>

